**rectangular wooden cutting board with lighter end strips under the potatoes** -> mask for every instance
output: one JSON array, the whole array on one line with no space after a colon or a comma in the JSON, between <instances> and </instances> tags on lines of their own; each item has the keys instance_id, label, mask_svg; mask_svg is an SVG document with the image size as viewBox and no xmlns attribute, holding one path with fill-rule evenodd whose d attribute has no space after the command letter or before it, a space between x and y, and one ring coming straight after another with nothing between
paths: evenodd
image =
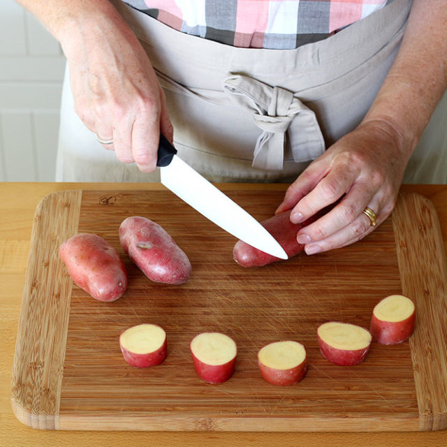
<instances>
[{"instance_id":1,"label":"rectangular wooden cutting board with lighter end strips under the potatoes","mask_svg":"<svg viewBox=\"0 0 447 447\"><path fill-rule=\"evenodd\" d=\"M258 220L284 191L233 190ZM119 245L119 223L159 223L189 256L182 286L156 284ZM78 232L108 240L122 256L129 290L98 302L75 286L59 260ZM263 268L233 261L235 239L166 190L61 191L34 218L13 367L11 401L22 423L56 430L411 431L447 427L447 268L429 200L401 195L392 217L360 242L295 256ZM332 365L316 329L337 320L369 328L391 294L416 303L416 330L396 346L372 344L360 365ZM119 334L156 323L168 336L162 365L124 362ZM189 342L224 332L238 349L233 377L211 385L197 375ZM294 386L263 381L256 356L281 339L301 342L309 369Z\"/></svg>"}]
</instances>

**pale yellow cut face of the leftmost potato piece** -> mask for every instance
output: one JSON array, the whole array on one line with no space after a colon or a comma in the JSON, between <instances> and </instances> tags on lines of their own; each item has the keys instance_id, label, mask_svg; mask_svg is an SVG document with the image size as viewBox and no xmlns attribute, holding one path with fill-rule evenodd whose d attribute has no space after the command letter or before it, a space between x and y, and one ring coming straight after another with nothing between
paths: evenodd
<instances>
[{"instance_id":1,"label":"pale yellow cut face of the leftmost potato piece","mask_svg":"<svg viewBox=\"0 0 447 447\"><path fill-rule=\"evenodd\" d=\"M119 337L119 344L134 354L152 353L163 346L166 332L158 325L143 323L126 329Z\"/></svg>"}]
</instances>

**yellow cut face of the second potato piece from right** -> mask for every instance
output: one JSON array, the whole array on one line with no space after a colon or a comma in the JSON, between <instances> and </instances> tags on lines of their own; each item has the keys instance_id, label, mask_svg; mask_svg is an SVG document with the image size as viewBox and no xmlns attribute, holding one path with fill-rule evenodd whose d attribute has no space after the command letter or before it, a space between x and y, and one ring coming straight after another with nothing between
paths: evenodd
<instances>
[{"instance_id":1,"label":"yellow cut face of the second potato piece from right","mask_svg":"<svg viewBox=\"0 0 447 447\"><path fill-rule=\"evenodd\" d=\"M330 321L318 328L318 337L335 349L357 351L371 344L371 334L360 326Z\"/></svg>"}]
</instances>

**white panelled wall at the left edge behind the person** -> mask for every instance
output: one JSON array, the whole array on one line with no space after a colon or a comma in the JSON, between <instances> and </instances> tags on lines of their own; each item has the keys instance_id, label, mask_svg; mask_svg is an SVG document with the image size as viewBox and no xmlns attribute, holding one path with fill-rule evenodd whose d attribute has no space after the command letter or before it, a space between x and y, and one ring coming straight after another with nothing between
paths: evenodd
<instances>
[{"instance_id":1,"label":"white panelled wall at the left edge behind the person","mask_svg":"<svg viewBox=\"0 0 447 447\"><path fill-rule=\"evenodd\" d=\"M52 181L65 59L14 0L0 0L0 181Z\"/></svg>"}]
</instances>

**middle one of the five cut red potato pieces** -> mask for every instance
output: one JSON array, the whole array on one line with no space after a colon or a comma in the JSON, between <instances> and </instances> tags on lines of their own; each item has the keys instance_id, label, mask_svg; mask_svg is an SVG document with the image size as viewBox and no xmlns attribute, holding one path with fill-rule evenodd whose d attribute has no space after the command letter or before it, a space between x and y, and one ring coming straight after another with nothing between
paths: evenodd
<instances>
[{"instance_id":1,"label":"middle one of the five cut red potato pieces","mask_svg":"<svg viewBox=\"0 0 447 447\"><path fill-rule=\"evenodd\" d=\"M258 352L258 367L268 383L294 385L306 374L305 347L291 341L270 343Z\"/></svg>"}]
</instances>

